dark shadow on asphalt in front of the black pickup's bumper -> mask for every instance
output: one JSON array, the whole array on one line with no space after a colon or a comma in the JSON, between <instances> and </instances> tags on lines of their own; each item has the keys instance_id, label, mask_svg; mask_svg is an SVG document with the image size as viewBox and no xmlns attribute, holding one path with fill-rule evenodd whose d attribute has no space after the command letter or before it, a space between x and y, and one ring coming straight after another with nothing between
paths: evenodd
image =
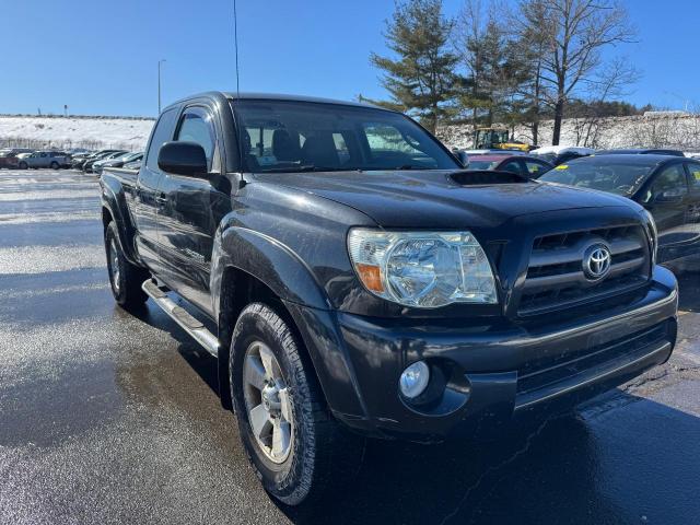
<instances>
[{"instance_id":1,"label":"dark shadow on asphalt in front of the black pickup's bumper","mask_svg":"<svg viewBox=\"0 0 700 525\"><path fill-rule=\"evenodd\" d=\"M335 498L281 509L298 524L693 522L700 419L614 396L605 409L488 444L370 442L358 479Z\"/></svg>"}]
</instances>

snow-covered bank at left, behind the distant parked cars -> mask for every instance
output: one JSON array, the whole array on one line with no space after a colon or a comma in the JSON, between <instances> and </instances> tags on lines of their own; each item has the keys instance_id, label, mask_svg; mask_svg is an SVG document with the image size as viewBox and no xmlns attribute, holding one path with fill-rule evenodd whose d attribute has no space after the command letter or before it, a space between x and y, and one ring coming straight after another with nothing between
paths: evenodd
<instances>
[{"instance_id":1,"label":"snow-covered bank at left, behind the distant parked cars","mask_svg":"<svg viewBox=\"0 0 700 525\"><path fill-rule=\"evenodd\" d=\"M153 119L0 115L0 147L145 148Z\"/></svg>"}]
</instances>

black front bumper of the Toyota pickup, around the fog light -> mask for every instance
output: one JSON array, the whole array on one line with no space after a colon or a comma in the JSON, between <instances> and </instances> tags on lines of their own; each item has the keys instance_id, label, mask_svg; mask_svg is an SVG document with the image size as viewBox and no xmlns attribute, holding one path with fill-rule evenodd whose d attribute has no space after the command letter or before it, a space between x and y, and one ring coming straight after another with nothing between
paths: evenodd
<instances>
[{"instance_id":1,"label":"black front bumper of the Toyota pickup, around the fog light","mask_svg":"<svg viewBox=\"0 0 700 525\"><path fill-rule=\"evenodd\" d=\"M418 326L290 307L335 416L369 434L422 441L490 432L529 411L575 405L665 362L677 305L675 277L656 267L628 304L537 327L502 318ZM398 393L400 373L417 360L440 382L423 405Z\"/></svg>"}]
</instances>

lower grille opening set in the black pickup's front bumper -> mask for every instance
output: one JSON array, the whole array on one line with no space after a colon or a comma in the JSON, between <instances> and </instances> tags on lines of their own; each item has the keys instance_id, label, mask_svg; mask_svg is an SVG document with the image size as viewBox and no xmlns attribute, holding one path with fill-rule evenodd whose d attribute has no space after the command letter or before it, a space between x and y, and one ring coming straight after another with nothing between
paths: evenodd
<instances>
[{"instance_id":1,"label":"lower grille opening set in the black pickup's front bumper","mask_svg":"<svg viewBox=\"0 0 700 525\"><path fill-rule=\"evenodd\" d=\"M607 363L634 355L667 338L668 322L663 322L604 345L559 354L556 358L529 361L517 371L517 394L528 394L581 372L605 368Z\"/></svg>"}]
</instances>

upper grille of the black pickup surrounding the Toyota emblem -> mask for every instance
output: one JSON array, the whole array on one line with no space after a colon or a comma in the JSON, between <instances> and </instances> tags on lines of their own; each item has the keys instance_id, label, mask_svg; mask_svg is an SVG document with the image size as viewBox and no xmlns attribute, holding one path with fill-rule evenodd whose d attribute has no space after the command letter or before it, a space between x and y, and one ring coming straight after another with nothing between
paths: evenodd
<instances>
[{"instance_id":1,"label":"upper grille of the black pickup surrounding the Toyota emblem","mask_svg":"<svg viewBox=\"0 0 700 525\"><path fill-rule=\"evenodd\" d=\"M611 264L607 277L592 281L584 273L583 258L597 243L609 247ZM538 315L631 292L649 281L650 267L649 243L641 225L537 237L517 313Z\"/></svg>"}]
</instances>

